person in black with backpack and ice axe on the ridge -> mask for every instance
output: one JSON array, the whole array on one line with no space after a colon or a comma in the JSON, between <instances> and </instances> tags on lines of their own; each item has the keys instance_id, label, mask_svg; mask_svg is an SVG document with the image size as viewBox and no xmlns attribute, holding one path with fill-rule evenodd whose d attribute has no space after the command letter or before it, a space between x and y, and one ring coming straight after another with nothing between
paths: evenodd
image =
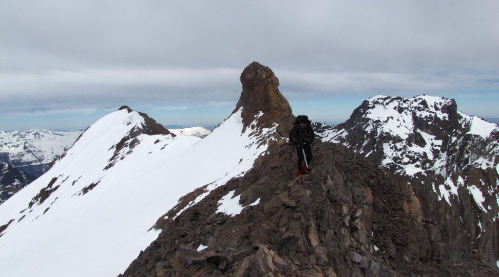
<instances>
[{"instance_id":1,"label":"person in black with backpack and ice axe on the ridge","mask_svg":"<svg viewBox=\"0 0 499 277\"><path fill-rule=\"evenodd\" d=\"M298 115L293 128L289 131L289 141L296 147L298 154L297 176L310 173L309 165L312 160L312 143L315 138L315 133L310 123L311 121L308 120L308 116Z\"/></svg>"}]
</instances>

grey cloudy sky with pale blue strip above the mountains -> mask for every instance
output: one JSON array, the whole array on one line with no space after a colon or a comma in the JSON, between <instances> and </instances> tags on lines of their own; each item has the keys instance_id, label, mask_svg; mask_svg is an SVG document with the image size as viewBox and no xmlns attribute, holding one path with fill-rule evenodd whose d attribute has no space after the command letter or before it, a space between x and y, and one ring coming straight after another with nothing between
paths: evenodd
<instances>
[{"instance_id":1,"label":"grey cloudy sky with pale blue strip above the mountains","mask_svg":"<svg viewBox=\"0 0 499 277\"><path fill-rule=\"evenodd\" d=\"M317 121L378 94L499 117L498 49L497 0L0 0L0 130L82 129L124 104L217 124L252 61Z\"/></svg>"}]
</instances>

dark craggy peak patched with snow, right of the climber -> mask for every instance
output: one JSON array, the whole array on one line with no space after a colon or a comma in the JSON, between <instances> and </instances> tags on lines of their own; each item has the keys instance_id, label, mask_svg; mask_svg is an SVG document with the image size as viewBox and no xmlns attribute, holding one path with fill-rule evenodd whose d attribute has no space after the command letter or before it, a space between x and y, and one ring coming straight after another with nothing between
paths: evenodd
<instances>
[{"instance_id":1,"label":"dark craggy peak patched with snow, right of the climber","mask_svg":"<svg viewBox=\"0 0 499 277\"><path fill-rule=\"evenodd\" d=\"M498 201L498 196L470 172L487 171L488 180L497 179L498 137L498 125L459 111L454 99L379 95L326 131L323 140L344 144L411 182L426 180L449 204L464 187L478 207L489 212L493 205L483 202Z\"/></svg>"}]
</instances>

